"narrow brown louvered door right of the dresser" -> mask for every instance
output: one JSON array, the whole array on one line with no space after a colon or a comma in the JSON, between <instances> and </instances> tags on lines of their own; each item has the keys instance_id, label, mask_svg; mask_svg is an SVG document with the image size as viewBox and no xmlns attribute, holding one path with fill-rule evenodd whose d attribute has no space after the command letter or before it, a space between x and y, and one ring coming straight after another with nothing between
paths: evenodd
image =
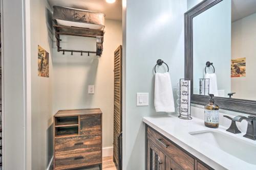
<instances>
[{"instance_id":1,"label":"narrow brown louvered door right of the dresser","mask_svg":"<svg viewBox=\"0 0 256 170\"><path fill-rule=\"evenodd\" d=\"M113 160L118 163L118 135L122 132L122 45L114 53L114 141Z\"/></svg>"}]
</instances>

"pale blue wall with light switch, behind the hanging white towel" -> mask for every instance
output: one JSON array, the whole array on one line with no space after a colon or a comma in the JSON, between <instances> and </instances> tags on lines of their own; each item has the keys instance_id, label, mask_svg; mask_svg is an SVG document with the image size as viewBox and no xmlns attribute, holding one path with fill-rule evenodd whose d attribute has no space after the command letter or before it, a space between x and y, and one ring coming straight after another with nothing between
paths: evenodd
<instances>
[{"instance_id":1,"label":"pale blue wall with light switch, behind the hanging white towel","mask_svg":"<svg viewBox=\"0 0 256 170\"><path fill-rule=\"evenodd\" d=\"M127 1L126 7L123 169L137 170L145 169L145 125L142 118L165 114L156 113L154 109L153 68L157 59L162 59L169 65L173 88L184 77L186 1L164 0L156 3L131 0ZM123 16L124 19L125 14ZM164 71L162 68L158 70ZM150 105L136 106L136 92L149 92Z\"/></svg>"}]
</instances>

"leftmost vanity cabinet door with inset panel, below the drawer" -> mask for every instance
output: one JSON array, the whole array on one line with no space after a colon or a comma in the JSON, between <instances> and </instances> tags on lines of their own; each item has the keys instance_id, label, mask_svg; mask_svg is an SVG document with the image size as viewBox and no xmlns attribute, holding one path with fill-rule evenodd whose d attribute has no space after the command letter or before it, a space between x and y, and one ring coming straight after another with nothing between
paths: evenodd
<instances>
[{"instance_id":1,"label":"leftmost vanity cabinet door with inset panel, below the drawer","mask_svg":"<svg viewBox=\"0 0 256 170\"><path fill-rule=\"evenodd\" d=\"M147 140L147 170L164 170L164 154Z\"/></svg>"}]
</instances>

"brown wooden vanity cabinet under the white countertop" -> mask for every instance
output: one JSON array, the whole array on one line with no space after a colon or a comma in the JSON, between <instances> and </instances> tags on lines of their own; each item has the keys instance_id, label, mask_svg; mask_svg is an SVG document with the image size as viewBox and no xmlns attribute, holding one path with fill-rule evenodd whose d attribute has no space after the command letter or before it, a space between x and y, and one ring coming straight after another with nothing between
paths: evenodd
<instances>
[{"instance_id":1,"label":"brown wooden vanity cabinet under the white countertop","mask_svg":"<svg viewBox=\"0 0 256 170\"><path fill-rule=\"evenodd\" d=\"M208 165L146 126L147 170L207 170Z\"/></svg>"}]
</instances>

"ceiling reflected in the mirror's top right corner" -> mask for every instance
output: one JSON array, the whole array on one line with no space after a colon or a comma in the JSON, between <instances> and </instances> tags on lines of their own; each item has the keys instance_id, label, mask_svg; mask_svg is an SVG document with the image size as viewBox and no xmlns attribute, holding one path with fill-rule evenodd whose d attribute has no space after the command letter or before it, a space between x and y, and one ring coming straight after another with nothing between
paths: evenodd
<instances>
[{"instance_id":1,"label":"ceiling reflected in the mirror's top right corner","mask_svg":"<svg viewBox=\"0 0 256 170\"><path fill-rule=\"evenodd\" d=\"M256 13L256 0L232 0L232 21Z\"/></svg>"}]
</instances>

